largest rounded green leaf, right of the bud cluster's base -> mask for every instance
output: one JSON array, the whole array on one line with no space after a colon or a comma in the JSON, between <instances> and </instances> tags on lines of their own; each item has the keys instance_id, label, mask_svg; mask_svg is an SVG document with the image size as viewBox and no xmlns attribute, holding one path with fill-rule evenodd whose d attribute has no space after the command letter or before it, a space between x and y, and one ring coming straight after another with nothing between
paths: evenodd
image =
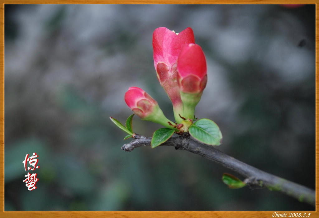
<instances>
[{"instance_id":1,"label":"largest rounded green leaf, right of the bud cluster's base","mask_svg":"<svg viewBox=\"0 0 319 218\"><path fill-rule=\"evenodd\" d=\"M189 134L207 145L220 145L223 136L217 124L209 119L200 119L189 127Z\"/></svg>"}]
</instances>

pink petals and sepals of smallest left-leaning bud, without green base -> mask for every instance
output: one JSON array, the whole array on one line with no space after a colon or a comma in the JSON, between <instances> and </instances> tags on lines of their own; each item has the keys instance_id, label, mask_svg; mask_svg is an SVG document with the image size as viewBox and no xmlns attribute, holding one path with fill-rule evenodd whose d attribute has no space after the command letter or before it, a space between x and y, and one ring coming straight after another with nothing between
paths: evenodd
<instances>
[{"instance_id":1,"label":"pink petals and sepals of smallest left-leaning bud, without green base","mask_svg":"<svg viewBox=\"0 0 319 218\"><path fill-rule=\"evenodd\" d=\"M157 102L147 94L143 89L138 87L130 87L125 93L124 100L130 109L141 119L149 116Z\"/></svg>"}]
</instances>

